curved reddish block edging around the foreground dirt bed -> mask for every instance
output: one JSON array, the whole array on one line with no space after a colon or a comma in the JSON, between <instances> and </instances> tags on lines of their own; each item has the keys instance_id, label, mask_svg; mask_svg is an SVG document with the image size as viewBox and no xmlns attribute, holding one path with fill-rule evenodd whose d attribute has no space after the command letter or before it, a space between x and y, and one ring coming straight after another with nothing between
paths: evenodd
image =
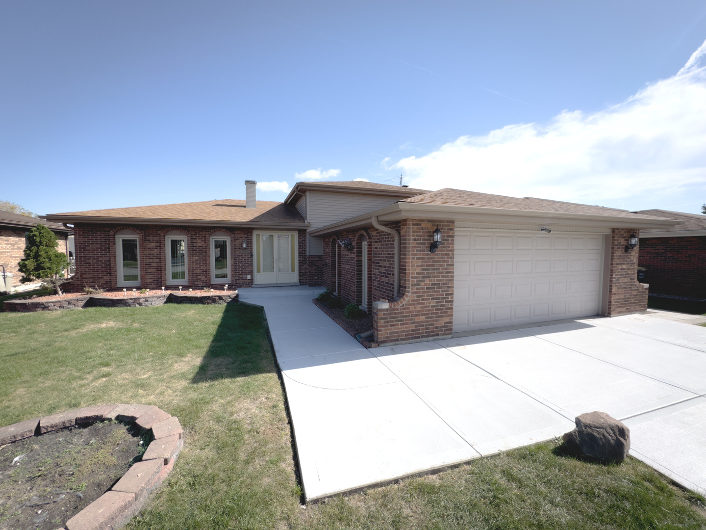
<instances>
[{"instance_id":1,"label":"curved reddish block edging around the foreground dirt bed","mask_svg":"<svg viewBox=\"0 0 706 530\"><path fill-rule=\"evenodd\" d=\"M116 530L127 524L172 471L184 447L179 418L152 405L113 404L77 408L0 428L0 445L4 445L71 425L102 420L134 422L144 430L151 429L155 440L150 442L142 461L131 466L110 490L68 519L66 530Z\"/></svg>"}]
</instances>

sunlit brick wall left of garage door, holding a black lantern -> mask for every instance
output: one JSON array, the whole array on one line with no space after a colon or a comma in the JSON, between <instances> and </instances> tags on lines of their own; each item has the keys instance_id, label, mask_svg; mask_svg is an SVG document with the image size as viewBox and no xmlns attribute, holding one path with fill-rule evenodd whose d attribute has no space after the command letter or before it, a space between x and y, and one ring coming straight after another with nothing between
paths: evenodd
<instances>
[{"instance_id":1,"label":"sunlit brick wall left of garage door, holding a black lantern","mask_svg":"<svg viewBox=\"0 0 706 530\"><path fill-rule=\"evenodd\" d=\"M443 242L432 254L429 245L437 225ZM400 294L387 309L373 308L376 341L448 336L453 331L454 223L407 219L400 223L400 232Z\"/></svg>"}]
</instances>

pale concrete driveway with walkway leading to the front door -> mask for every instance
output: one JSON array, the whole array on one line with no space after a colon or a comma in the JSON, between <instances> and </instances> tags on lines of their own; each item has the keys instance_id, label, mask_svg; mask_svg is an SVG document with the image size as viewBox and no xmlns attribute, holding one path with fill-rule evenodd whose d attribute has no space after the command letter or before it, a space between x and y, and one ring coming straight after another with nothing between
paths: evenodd
<instances>
[{"instance_id":1,"label":"pale concrete driveway with walkway leading to the front door","mask_svg":"<svg viewBox=\"0 0 706 530\"><path fill-rule=\"evenodd\" d=\"M596 410L706 494L706 328L632 315L366 350L318 292L240 291L265 307L308 500L549 440Z\"/></svg>"}]
</instances>

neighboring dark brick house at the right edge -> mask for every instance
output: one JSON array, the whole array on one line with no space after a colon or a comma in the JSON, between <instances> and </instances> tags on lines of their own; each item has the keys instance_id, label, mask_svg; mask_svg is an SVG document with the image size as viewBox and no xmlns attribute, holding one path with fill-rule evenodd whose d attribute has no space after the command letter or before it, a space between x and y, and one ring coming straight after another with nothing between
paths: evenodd
<instances>
[{"instance_id":1,"label":"neighboring dark brick house at the right edge","mask_svg":"<svg viewBox=\"0 0 706 530\"><path fill-rule=\"evenodd\" d=\"M640 266L650 294L706 299L706 216L659 209L635 213L681 221L640 234Z\"/></svg>"}]
</instances>

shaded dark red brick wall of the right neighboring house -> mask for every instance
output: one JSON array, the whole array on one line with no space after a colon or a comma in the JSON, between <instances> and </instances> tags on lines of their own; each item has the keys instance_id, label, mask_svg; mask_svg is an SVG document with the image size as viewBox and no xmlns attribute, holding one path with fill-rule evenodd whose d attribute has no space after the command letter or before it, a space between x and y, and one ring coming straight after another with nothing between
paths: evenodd
<instances>
[{"instance_id":1,"label":"shaded dark red brick wall of the right neighboring house","mask_svg":"<svg viewBox=\"0 0 706 530\"><path fill-rule=\"evenodd\" d=\"M640 239L650 293L706 298L706 236Z\"/></svg>"}]
</instances>

